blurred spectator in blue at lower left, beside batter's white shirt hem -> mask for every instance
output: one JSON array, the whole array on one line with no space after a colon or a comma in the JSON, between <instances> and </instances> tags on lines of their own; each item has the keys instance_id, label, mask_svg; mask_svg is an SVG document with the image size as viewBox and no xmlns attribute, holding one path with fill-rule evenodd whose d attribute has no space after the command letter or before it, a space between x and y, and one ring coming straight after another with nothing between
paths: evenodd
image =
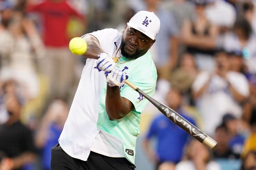
<instances>
[{"instance_id":1,"label":"blurred spectator in blue at lower left, beside batter's white shirt hem","mask_svg":"<svg viewBox=\"0 0 256 170\"><path fill-rule=\"evenodd\" d=\"M67 103L64 100L55 99L42 119L35 143L42 149L41 159L44 170L51 170L51 148L58 143L67 115Z\"/></svg>"}]
</instances>

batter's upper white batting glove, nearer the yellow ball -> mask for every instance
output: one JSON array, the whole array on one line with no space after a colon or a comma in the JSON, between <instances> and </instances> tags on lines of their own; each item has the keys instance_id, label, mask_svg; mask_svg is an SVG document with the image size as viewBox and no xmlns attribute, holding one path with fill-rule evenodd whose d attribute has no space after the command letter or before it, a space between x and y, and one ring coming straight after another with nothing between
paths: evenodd
<instances>
[{"instance_id":1,"label":"batter's upper white batting glove, nearer the yellow ball","mask_svg":"<svg viewBox=\"0 0 256 170\"><path fill-rule=\"evenodd\" d=\"M101 53L98 55L96 68L104 72L111 72L115 67L115 62L107 53Z\"/></svg>"}]
</instances>

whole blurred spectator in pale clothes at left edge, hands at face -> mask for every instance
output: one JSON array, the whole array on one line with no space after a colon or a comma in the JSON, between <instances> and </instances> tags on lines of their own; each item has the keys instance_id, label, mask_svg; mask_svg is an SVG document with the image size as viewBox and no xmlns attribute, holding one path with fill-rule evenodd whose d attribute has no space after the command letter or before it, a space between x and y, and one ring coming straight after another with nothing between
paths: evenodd
<instances>
[{"instance_id":1,"label":"whole blurred spectator in pale clothes at left edge, hands at face","mask_svg":"<svg viewBox=\"0 0 256 170\"><path fill-rule=\"evenodd\" d=\"M25 19L22 13L17 11L14 12L7 28L8 37L0 40L1 47L5 48L0 55L6 55L8 60L8 63L4 62L1 67L1 78L16 80L22 86L25 100L35 99L39 94L35 61L44 52L40 35L33 22Z\"/></svg>"}]
</instances>

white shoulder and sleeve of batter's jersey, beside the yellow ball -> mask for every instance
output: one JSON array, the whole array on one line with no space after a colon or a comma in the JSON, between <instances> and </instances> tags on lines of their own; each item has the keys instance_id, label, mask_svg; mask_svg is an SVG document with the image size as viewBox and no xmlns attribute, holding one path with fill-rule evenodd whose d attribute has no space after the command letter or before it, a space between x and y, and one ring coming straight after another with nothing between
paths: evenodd
<instances>
[{"instance_id":1,"label":"white shoulder and sleeve of batter's jersey, beside the yellow ball","mask_svg":"<svg viewBox=\"0 0 256 170\"><path fill-rule=\"evenodd\" d=\"M98 39L101 48L105 51L109 44L113 42L113 39L117 39L117 37L121 33L119 33L118 30L113 28L105 28L102 30L91 32L89 34L95 36ZM84 36L82 36L82 38L83 37Z\"/></svg>"}]
</instances>

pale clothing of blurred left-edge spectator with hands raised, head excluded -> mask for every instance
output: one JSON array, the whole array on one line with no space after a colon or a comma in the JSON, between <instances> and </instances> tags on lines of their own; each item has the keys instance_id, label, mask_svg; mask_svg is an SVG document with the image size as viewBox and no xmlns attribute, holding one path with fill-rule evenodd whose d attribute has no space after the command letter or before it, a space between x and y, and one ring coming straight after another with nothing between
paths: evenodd
<instances>
[{"instance_id":1,"label":"pale clothing of blurred left-edge spectator with hands raised, head excluded","mask_svg":"<svg viewBox=\"0 0 256 170\"><path fill-rule=\"evenodd\" d=\"M20 35L14 39L8 31L0 34L0 55L2 65L0 78L3 81L16 80L23 87L27 97L35 98L39 93L39 80L34 65L34 53L31 52L33 39ZM13 48L15 47L15 48Z\"/></svg>"}]
</instances>

